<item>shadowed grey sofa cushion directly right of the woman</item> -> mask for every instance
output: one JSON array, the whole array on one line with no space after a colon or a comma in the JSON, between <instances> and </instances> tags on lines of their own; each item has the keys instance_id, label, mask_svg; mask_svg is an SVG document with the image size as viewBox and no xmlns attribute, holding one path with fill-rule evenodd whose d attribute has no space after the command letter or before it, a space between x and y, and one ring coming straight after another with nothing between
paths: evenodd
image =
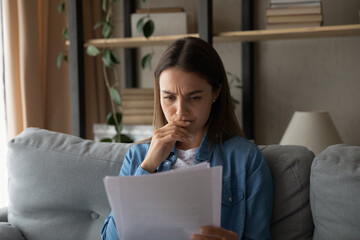
<instances>
[{"instance_id":1,"label":"shadowed grey sofa cushion directly right of the woman","mask_svg":"<svg viewBox=\"0 0 360 240\"><path fill-rule=\"evenodd\" d=\"M314 225L309 177L314 153L301 146L271 145L260 149L274 180L272 239L311 239Z\"/></svg>"}]
</instances>

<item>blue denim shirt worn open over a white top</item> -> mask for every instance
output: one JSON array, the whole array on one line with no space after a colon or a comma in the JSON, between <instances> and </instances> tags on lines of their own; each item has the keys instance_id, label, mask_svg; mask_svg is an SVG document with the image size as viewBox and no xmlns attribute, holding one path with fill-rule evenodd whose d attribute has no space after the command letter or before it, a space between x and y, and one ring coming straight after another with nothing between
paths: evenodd
<instances>
[{"instance_id":1,"label":"blue denim shirt worn open over a white top","mask_svg":"<svg viewBox=\"0 0 360 240\"><path fill-rule=\"evenodd\" d=\"M125 155L120 176L149 174L140 167L149 144L134 145ZM157 168L168 171L176 162L174 151ZM273 181L261 151L250 141L234 137L222 144L208 145L205 135L195 156L195 164L209 161L223 166L221 227L236 232L239 239L271 239ZM112 213L101 231L102 239L119 239Z\"/></svg>"}]
</instances>

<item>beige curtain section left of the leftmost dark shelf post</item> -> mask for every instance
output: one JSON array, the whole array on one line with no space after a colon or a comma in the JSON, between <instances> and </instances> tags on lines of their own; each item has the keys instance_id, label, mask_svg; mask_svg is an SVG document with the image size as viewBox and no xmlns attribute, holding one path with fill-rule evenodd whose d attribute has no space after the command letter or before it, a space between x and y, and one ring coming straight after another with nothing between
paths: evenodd
<instances>
[{"instance_id":1,"label":"beige curtain section left of the leftmost dark shelf post","mask_svg":"<svg viewBox=\"0 0 360 240\"><path fill-rule=\"evenodd\" d=\"M8 137L27 127L70 133L69 73L56 67L65 16L55 0L4 0Z\"/></svg>"}]
</instances>

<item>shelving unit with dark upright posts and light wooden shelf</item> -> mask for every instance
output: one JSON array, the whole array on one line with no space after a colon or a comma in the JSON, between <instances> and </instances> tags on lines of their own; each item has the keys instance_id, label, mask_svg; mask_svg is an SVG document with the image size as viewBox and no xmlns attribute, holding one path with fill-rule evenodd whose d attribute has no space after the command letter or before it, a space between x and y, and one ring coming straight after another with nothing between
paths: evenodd
<instances>
[{"instance_id":1,"label":"shelving unit with dark upright posts and light wooden shelf","mask_svg":"<svg viewBox=\"0 0 360 240\"><path fill-rule=\"evenodd\" d=\"M304 39L304 38L327 38L360 36L360 24L339 25L339 26L321 26L296 29L278 29L278 30L252 30L253 21L251 14L253 12L252 0L242 0L242 13L240 14L243 31L223 32L213 34L212 32L212 0L199 1L199 33L186 35L171 35L151 37L150 41L143 37L130 38L130 13L133 11L134 2L124 0L125 9L125 38L114 39L92 39L86 42L82 41L82 1L74 0L69 5L69 31L70 41L74 45L70 46L71 57L70 79L75 86L71 90L72 106L74 107L72 116L72 125L74 135L83 136L85 124L85 113L79 109L84 109L84 74L83 74L83 54L81 48L88 45L96 47L121 47L125 48L126 64L126 86L136 87L136 69L135 48L150 45L167 45L175 39L194 36L200 37L212 44L212 42L241 42L242 43L242 80L243 80L243 129L248 138L254 137L254 86L253 86L253 43L266 40L285 40L285 39ZM78 38L78 36L80 36ZM69 43L67 43L70 45ZM75 60L74 60L75 59ZM80 114L79 114L80 112ZM80 116L79 116L80 115ZM80 130L79 130L80 129Z\"/></svg>"}]
</instances>

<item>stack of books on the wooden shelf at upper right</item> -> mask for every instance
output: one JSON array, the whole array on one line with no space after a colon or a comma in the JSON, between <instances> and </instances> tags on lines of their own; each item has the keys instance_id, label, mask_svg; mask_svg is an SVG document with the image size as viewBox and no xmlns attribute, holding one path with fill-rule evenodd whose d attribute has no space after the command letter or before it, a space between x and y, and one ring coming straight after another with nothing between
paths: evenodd
<instances>
[{"instance_id":1,"label":"stack of books on the wooden shelf at upper right","mask_svg":"<svg viewBox=\"0 0 360 240\"><path fill-rule=\"evenodd\" d=\"M270 0L266 19L267 29L321 26L321 0Z\"/></svg>"}]
</instances>

